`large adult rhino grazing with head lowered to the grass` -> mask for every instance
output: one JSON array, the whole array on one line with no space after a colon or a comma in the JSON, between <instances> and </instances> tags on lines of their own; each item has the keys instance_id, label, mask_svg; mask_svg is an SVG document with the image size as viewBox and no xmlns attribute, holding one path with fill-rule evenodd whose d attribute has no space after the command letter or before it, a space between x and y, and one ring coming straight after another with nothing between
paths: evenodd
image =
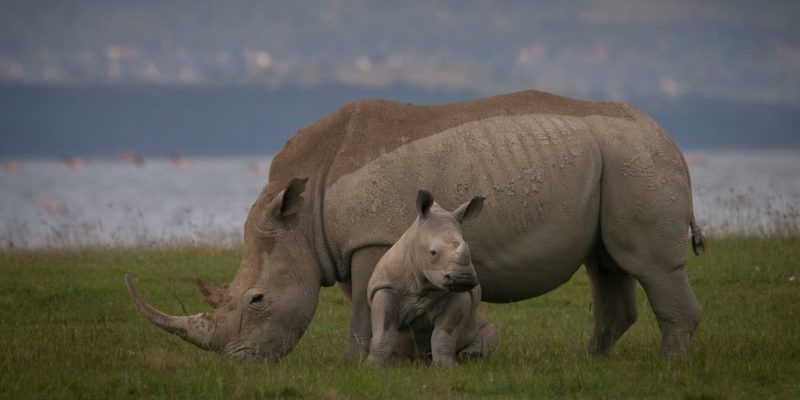
<instances>
[{"instance_id":1,"label":"large adult rhino grazing with head lowered to the grass","mask_svg":"<svg viewBox=\"0 0 800 400\"><path fill-rule=\"evenodd\" d=\"M126 278L129 292L153 323L203 349L277 359L303 335L320 287L338 282L352 301L347 354L362 358L367 282L414 219L419 188L445 207L486 196L486 215L464 232L484 301L539 296L584 264L595 318L588 351L609 351L636 320L636 281L658 319L661 351L687 350L701 318L684 271L689 228L695 252L703 239L683 156L628 104L537 91L345 105L275 155L233 282L198 282L211 311L168 316Z\"/></svg>"}]
</instances>

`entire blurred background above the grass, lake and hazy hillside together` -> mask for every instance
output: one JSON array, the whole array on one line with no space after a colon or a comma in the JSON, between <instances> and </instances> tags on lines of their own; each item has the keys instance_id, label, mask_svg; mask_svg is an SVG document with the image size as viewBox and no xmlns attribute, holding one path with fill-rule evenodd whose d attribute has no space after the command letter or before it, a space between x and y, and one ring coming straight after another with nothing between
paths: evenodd
<instances>
[{"instance_id":1,"label":"entire blurred background above the grass, lake and hazy hillside together","mask_svg":"<svg viewBox=\"0 0 800 400\"><path fill-rule=\"evenodd\" d=\"M0 246L236 243L269 158L363 97L625 100L712 231L797 229L800 2L0 0Z\"/></svg>"}]
</instances>

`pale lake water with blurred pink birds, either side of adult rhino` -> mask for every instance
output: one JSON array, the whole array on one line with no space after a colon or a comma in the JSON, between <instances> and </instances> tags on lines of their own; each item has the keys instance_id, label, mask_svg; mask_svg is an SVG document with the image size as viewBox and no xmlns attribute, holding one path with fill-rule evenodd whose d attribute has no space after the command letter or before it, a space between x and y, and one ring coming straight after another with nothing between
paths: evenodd
<instances>
[{"instance_id":1,"label":"pale lake water with blurred pink birds, either side of adult rhino","mask_svg":"<svg viewBox=\"0 0 800 400\"><path fill-rule=\"evenodd\" d=\"M0 247L235 245L269 159L5 162ZM707 234L800 234L800 152L687 159Z\"/></svg>"}]
</instances>

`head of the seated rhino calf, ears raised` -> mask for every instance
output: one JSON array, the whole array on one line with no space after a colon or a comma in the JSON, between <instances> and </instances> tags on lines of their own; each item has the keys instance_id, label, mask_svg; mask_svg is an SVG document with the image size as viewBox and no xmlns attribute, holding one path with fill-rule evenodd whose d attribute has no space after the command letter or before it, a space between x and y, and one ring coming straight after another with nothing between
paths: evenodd
<instances>
[{"instance_id":1,"label":"head of the seated rhino calf, ears raised","mask_svg":"<svg viewBox=\"0 0 800 400\"><path fill-rule=\"evenodd\" d=\"M450 212L433 201L433 196L420 190L417 195L417 229L411 246L416 267L434 286L463 292L478 284L472 265L469 245L464 241L461 224L483 210L483 197L473 197Z\"/></svg>"}]
</instances>

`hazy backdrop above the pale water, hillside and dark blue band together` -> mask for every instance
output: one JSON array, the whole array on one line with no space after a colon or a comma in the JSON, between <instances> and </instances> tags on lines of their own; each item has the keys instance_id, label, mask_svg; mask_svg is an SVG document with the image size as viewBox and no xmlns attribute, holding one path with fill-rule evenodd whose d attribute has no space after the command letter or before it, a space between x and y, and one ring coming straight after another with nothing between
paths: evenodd
<instances>
[{"instance_id":1,"label":"hazy backdrop above the pale water, hillside and dark blue band together","mask_svg":"<svg viewBox=\"0 0 800 400\"><path fill-rule=\"evenodd\" d=\"M800 139L800 2L0 0L0 155L266 152L348 100L627 100L685 147Z\"/></svg>"}]
</instances>

